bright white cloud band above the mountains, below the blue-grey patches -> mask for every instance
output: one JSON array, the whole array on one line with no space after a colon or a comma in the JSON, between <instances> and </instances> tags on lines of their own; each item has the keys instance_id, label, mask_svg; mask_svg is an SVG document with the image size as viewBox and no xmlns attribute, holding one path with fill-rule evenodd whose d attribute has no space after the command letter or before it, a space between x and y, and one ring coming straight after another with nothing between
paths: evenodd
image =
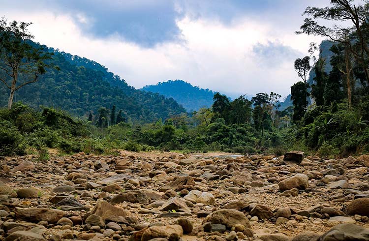
<instances>
[{"instance_id":1,"label":"bright white cloud band above the mountains, below the blue-grey patches","mask_svg":"<svg viewBox=\"0 0 369 241\"><path fill-rule=\"evenodd\" d=\"M83 13L74 17L49 11L5 15L11 20L33 22L30 30L36 41L95 60L136 88L183 79L216 91L248 94L276 91L287 95L298 79L293 56L279 56L276 52L277 56L270 60L268 55L255 56L254 46L274 43L303 56L308 43L317 39L278 31L273 24L247 17L231 25L214 19L185 17L177 21L183 41L144 48L124 41L118 34L106 38L86 35L76 23L90 23ZM262 58L269 59L263 62Z\"/></svg>"}]
</instances>

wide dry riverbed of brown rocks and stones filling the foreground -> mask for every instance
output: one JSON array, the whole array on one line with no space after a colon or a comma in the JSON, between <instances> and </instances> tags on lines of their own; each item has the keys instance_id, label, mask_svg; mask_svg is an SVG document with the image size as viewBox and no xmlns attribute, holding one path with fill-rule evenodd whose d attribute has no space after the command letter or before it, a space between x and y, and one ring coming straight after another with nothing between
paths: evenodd
<instances>
[{"instance_id":1,"label":"wide dry riverbed of brown rocks and stones filling the foreground","mask_svg":"<svg viewBox=\"0 0 369 241\"><path fill-rule=\"evenodd\" d=\"M0 240L369 240L369 155L121 151L0 164Z\"/></svg>"}]
</instances>

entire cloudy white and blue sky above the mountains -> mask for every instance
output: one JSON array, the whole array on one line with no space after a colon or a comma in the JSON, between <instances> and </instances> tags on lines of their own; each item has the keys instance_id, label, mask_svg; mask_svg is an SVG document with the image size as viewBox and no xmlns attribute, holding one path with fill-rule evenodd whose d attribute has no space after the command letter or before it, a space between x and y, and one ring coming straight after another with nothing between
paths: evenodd
<instances>
[{"instance_id":1,"label":"entire cloudy white and blue sky above the mountains","mask_svg":"<svg viewBox=\"0 0 369 241\"><path fill-rule=\"evenodd\" d=\"M298 81L295 35L308 5L329 0L0 0L0 15L32 22L35 40L95 60L129 85L182 79L223 93L275 91Z\"/></svg>"}]
</instances>

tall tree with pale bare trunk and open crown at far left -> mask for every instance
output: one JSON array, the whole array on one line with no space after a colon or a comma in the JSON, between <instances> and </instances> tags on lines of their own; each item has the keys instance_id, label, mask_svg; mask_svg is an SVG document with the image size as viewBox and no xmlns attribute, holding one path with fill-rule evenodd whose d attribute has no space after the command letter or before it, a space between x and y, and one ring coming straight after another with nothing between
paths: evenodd
<instances>
[{"instance_id":1,"label":"tall tree with pale bare trunk and open crown at far left","mask_svg":"<svg viewBox=\"0 0 369 241\"><path fill-rule=\"evenodd\" d=\"M46 60L52 53L30 44L33 38L27 28L31 23L0 20L0 81L10 90L8 109L11 109L14 93L25 85L35 83L50 67Z\"/></svg>"}]
</instances>

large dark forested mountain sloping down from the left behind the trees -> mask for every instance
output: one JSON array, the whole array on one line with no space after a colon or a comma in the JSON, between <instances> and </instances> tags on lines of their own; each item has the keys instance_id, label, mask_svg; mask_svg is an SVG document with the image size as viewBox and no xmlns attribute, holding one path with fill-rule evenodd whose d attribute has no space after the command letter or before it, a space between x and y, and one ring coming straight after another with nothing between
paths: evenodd
<instances>
[{"instance_id":1,"label":"large dark forested mountain sloping down from the left behind the trees","mask_svg":"<svg viewBox=\"0 0 369 241\"><path fill-rule=\"evenodd\" d=\"M33 42L32 45L40 47ZM125 120L141 122L167 119L185 112L174 99L135 90L95 61L46 46L44 49L54 53L53 60L49 61L60 70L50 69L40 76L37 83L18 90L15 101L23 101L34 108L40 105L62 108L80 117L90 112L96 114L100 107L116 105L117 111L122 110ZM5 106L9 96L5 85L0 85L0 95L0 105Z\"/></svg>"}]
</instances>

